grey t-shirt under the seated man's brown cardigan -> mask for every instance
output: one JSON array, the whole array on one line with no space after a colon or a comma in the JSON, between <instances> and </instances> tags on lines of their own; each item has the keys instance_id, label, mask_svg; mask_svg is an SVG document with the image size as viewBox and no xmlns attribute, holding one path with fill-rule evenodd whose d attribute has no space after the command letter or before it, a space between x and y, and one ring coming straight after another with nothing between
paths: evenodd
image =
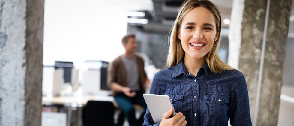
<instances>
[{"instance_id":1,"label":"grey t-shirt under the seated man's brown cardigan","mask_svg":"<svg viewBox=\"0 0 294 126\"><path fill-rule=\"evenodd\" d=\"M124 62L125 69L127 72L127 85L133 91L139 91L139 72L137 66L137 59L134 55L132 58L128 59L124 55L121 56Z\"/></svg>"}]
</instances>

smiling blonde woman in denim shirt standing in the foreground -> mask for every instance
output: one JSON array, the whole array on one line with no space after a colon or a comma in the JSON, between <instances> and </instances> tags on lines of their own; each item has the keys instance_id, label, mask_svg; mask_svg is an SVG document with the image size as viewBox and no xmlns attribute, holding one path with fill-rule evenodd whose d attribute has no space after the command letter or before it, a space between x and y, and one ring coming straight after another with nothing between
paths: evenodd
<instances>
[{"instance_id":1,"label":"smiling blonde woman in denim shirt standing in the foreground","mask_svg":"<svg viewBox=\"0 0 294 126\"><path fill-rule=\"evenodd\" d=\"M245 78L223 63L221 17L208 0L186 0L170 38L167 67L155 74L150 94L169 95L174 108L155 124L147 108L143 125L252 125ZM170 118L173 109L178 112Z\"/></svg>"}]
</instances>

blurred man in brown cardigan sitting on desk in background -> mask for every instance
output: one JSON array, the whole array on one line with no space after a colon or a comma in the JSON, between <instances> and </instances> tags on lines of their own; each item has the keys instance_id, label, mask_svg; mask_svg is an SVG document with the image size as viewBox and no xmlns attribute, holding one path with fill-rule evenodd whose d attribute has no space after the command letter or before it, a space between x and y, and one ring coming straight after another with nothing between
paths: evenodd
<instances>
[{"instance_id":1,"label":"blurred man in brown cardigan sitting on desk in background","mask_svg":"<svg viewBox=\"0 0 294 126\"><path fill-rule=\"evenodd\" d=\"M123 37L122 44L125 53L110 63L107 85L113 91L114 99L128 118L130 126L139 126L143 124L147 108L143 98L144 84L150 87L150 82L144 70L144 60L136 54L135 35ZM139 104L145 110L139 120L135 117L134 104Z\"/></svg>"}]
</instances>

